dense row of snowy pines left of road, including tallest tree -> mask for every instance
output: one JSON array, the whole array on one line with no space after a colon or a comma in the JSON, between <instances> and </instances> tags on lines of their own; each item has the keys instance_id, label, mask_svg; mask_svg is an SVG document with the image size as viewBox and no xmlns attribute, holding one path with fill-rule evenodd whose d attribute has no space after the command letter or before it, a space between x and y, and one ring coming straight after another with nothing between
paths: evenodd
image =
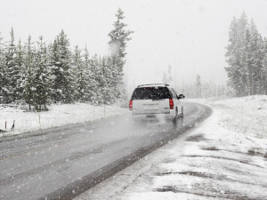
<instances>
[{"instance_id":1,"label":"dense row of snowy pines left of road, including tallest tree","mask_svg":"<svg viewBox=\"0 0 267 200\"><path fill-rule=\"evenodd\" d=\"M26 103L29 110L43 110L50 103L101 105L122 99L125 46L132 32L124 29L120 9L116 16L109 33L109 45L116 51L110 56L91 56L86 46L71 51L63 30L52 44L45 44L42 36L35 42L28 36L27 43L15 44L13 30L8 42L1 38L0 103Z\"/></svg>"}]
</instances>

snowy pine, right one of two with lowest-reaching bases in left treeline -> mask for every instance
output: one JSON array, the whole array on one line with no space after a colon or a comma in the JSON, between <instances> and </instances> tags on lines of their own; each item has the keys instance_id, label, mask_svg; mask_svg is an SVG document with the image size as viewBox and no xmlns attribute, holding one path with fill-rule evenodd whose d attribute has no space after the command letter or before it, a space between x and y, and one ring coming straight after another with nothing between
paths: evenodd
<instances>
[{"instance_id":1,"label":"snowy pine, right one of two with lowest-reaching bases in left treeline","mask_svg":"<svg viewBox=\"0 0 267 200\"><path fill-rule=\"evenodd\" d=\"M34 104L37 111L47 110L46 105L49 103L51 97L52 77L49 68L48 56L46 46L44 44L43 36L39 37L37 42L37 50L34 59L34 85L36 91L34 92ZM42 105L44 108L42 108Z\"/></svg>"}]
</instances>

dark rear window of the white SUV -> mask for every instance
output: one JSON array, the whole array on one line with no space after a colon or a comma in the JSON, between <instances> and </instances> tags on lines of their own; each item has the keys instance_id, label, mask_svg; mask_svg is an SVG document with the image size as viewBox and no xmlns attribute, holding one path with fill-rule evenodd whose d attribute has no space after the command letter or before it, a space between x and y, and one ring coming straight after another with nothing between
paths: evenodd
<instances>
[{"instance_id":1,"label":"dark rear window of the white SUV","mask_svg":"<svg viewBox=\"0 0 267 200\"><path fill-rule=\"evenodd\" d=\"M166 87L141 87L134 90L132 100L162 100L171 99Z\"/></svg>"}]
</instances>

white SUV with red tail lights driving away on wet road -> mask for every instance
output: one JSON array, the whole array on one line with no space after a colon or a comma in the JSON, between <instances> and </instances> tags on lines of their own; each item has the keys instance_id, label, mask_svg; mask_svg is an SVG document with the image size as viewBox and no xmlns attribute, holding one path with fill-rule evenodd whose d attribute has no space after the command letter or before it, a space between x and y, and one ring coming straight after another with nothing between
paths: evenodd
<instances>
[{"instance_id":1,"label":"white SUV with red tail lights driving away on wet road","mask_svg":"<svg viewBox=\"0 0 267 200\"><path fill-rule=\"evenodd\" d=\"M142 84L135 88L129 102L129 109L133 115L156 116L183 116L183 107L180 99L184 95L176 94L168 84Z\"/></svg>"}]
</instances>

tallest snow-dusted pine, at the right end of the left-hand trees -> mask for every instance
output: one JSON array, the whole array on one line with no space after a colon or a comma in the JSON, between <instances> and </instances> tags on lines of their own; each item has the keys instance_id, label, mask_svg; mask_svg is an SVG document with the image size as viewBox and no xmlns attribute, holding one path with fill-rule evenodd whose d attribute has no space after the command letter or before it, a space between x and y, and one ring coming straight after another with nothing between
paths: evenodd
<instances>
[{"instance_id":1,"label":"tallest snow-dusted pine, at the right end of the left-hand trees","mask_svg":"<svg viewBox=\"0 0 267 200\"><path fill-rule=\"evenodd\" d=\"M132 38L130 37L134 31L126 30L126 24L122 21L125 16L124 12L119 8L116 14L117 20L113 24L113 29L109 32L109 49L112 57L113 64L117 66L117 99L122 99L125 96L125 87L124 87L124 66L125 66L125 55L126 53L126 44Z\"/></svg>"}]
</instances>

